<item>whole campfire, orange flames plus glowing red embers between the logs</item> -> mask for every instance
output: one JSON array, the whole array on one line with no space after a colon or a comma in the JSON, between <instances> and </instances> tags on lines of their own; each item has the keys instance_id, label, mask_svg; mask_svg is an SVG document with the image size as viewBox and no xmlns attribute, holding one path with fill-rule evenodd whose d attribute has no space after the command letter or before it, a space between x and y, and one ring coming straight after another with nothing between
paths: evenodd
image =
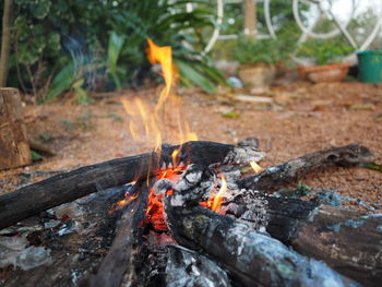
<instances>
[{"instance_id":1,"label":"whole campfire, orange flames plus glowing red embers between the logs","mask_svg":"<svg viewBox=\"0 0 382 287\"><path fill-rule=\"evenodd\" d=\"M184 117L182 117L180 110L181 98L171 93L177 77L176 69L172 64L171 47L159 47L148 38L147 44L148 61L152 64L160 64L165 87L162 89L154 109L141 98L134 98L132 100L122 98L123 108L130 118L129 130L133 140L141 145L147 143L154 145L155 152L160 151L162 141L164 137L167 137L166 135L168 134L170 134L171 140L180 144L187 141L196 141L196 134L191 131L190 124L184 121ZM176 127L176 129L174 129L174 127ZM158 171L158 180L164 178L171 179L186 169L184 165L181 167L179 166L180 150L181 145L179 150L174 151L171 155L172 168ZM170 193L171 191L167 192L167 194ZM151 190L148 195L146 218L153 224L156 230L167 230L163 214L163 196L165 195L155 194L154 189ZM117 206L124 206L124 204L130 203L132 200L132 198L126 199ZM215 208L218 208L218 202L216 202L215 205Z\"/></svg>"}]
</instances>

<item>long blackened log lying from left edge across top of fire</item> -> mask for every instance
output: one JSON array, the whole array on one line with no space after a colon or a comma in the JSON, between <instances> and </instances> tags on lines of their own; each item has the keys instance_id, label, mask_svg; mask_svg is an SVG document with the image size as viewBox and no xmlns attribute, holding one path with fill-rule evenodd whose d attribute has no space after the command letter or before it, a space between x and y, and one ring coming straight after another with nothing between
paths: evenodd
<instances>
[{"instance_id":1,"label":"long blackened log lying from left edge across top of fire","mask_svg":"<svg viewBox=\"0 0 382 287\"><path fill-rule=\"evenodd\" d=\"M235 163L238 158L241 158L242 151L248 152L246 147L229 144L202 141L188 142L181 146L166 145L162 148L160 154L153 152L123 157L57 175L15 192L1 195L0 229L53 206L96 192L99 188L107 189L134 180L146 179L154 175L159 167L172 165L171 154L179 148L180 162L204 166L215 163ZM255 150L249 151L253 152L251 158L259 158L259 155L261 155Z\"/></svg>"}]
</instances>

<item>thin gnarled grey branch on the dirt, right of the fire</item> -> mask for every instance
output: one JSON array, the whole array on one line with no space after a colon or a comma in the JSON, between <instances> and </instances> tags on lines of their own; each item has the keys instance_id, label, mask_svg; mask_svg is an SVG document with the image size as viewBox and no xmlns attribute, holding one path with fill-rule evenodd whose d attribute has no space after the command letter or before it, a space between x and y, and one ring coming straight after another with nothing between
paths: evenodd
<instances>
[{"instance_id":1,"label":"thin gnarled grey branch on the dirt, right of the fire","mask_svg":"<svg viewBox=\"0 0 382 287\"><path fill-rule=\"evenodd\" d=\"M372 159L372 153L359 144L333 147L266 168L255 176L242 179L238 182L238 186L242 189L270 191L318 169L331 166L355 167L360 164L371 163Z\"/></svg>"}]
</instances>

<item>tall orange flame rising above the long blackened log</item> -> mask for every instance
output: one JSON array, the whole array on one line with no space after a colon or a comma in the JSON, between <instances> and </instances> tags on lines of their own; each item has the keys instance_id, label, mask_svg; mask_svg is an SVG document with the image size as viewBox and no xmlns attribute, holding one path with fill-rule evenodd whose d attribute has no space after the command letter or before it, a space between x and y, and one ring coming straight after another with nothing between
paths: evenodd
<instances>
[{"instance_id":1,"label":"tall orange flame rising above the long blackened log","mask_svg":"<svg viewBox=\"0 0 382 287\"><path fill-rule=\"evenodd\" d=\"M196 141L198 136L191 131L181 112L181 98L171 93L176 83L176 69L172 64L171 47L159 47L147 38L148 61L162 67L165 87L162 89L155 107L151 107L141 98L128 100L122 98L122 105L129 115L129 130L139 144L150 144L155 152L160 151L163 137L170 135L178 143ZM174 129L176 127L176 130Z\"/></svg>"}]
</instances>

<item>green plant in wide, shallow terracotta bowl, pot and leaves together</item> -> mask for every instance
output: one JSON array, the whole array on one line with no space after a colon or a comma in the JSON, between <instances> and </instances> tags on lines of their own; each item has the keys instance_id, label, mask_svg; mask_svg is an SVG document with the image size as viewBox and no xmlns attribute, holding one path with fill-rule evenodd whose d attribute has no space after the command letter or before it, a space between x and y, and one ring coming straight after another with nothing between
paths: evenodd
<instances>
[{"instance_id":1,"label":"green plant in wide, shallow terracotta bowl, pot and leaves together","mask_svg":"<svg viewBox=\"0 0 382 287\"><path fill-rule=\"evenodd\" d=\"M302 80L313 83L341 82L347 75L350 64L343 63L345 55L353 48L336 40L312 40L301 46L299 55L313 61L310 65L298 65L297 71Z\"/></svg>"}]
</instances>

